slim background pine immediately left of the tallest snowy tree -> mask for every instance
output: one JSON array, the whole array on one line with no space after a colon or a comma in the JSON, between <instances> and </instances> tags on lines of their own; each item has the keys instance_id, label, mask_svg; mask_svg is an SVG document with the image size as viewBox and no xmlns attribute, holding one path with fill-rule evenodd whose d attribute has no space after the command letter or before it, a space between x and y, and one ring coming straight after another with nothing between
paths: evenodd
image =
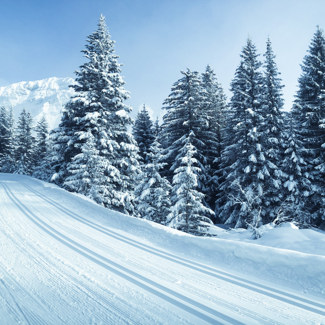
<instances>
[{"instance_id":1,"label":"slim background pine immediately left of the tallest snowy tree","mask_svg":"<svg viewBox=\"0 0 325 325\"><path fill-rule=\"evenodd\" d=\"M53 170L51 168L51 140L48 134L48 124L45 115L37 122L35 127L37 134L35 147L35 169L33 177L49 182Z\"/></svg>"}]
</instances>

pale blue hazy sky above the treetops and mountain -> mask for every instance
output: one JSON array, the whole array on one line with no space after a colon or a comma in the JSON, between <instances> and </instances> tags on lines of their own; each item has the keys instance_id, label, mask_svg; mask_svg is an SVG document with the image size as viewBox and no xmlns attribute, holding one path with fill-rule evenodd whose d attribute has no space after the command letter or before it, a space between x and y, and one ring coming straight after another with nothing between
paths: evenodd
<instances>
[{"instance_id":1,"label":"pale blue hazy sky above the treetops and mountain","mask_svg":"<svg viewBox=\"0 0 325 325\"><path fill-rule=\"evenodd\" d=\"M325 28L324 0L3 0L0 86L75 78L101 13L124 64L127 103L135 115L145 102L154 117L186 68L204 72L210 64L229 99L248 33L261 59L270 35L290 110L316 25Z\"/></svg>"}]
</instances>

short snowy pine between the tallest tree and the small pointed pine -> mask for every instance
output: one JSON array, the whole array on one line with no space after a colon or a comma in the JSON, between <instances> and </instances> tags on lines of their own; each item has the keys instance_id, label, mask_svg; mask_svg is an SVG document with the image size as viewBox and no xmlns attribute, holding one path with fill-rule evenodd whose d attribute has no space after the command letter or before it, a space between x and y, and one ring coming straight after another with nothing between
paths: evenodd
<instances>
[{"instance_id":1,"label":"short snowy pine between the tallest tree and the small pointed pine","mask_svg":"<svg viewBox=\"0 0 325 325\"><path fill-rule=\"evenodd\" d=\"M147 163L142 166L143 172L139 175L141 182L136 186L135 195L141 218L165 225L167 215L171 212L172 186L159 174L165 164L161 161L162 148L155 140L147 152Z\"/></svg>"}]
</instances>

